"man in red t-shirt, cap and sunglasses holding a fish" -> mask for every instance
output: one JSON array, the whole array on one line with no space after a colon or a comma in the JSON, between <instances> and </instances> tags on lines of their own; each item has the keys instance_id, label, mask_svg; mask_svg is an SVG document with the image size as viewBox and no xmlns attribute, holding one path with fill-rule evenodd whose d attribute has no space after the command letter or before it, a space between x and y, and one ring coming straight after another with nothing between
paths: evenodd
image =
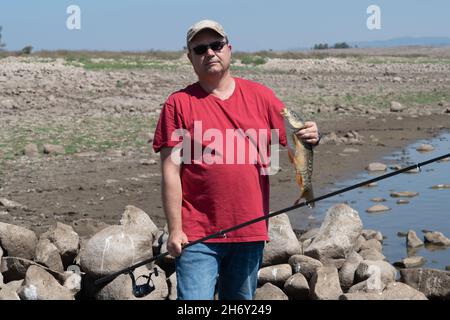
<instances>
[{"instance_id":1,"label":"man in red t-shirt, cap and sunglasses holding a fish","mask_svg":"<svg viewBox=\"0 0 450 320\"><path fill-rule=\"evenodd\" d=\"M178 299L213 299L216 284L219 299L252 299L264 243L269 240L267 222L261 221L183 250L189 241L269 213L269 180L261 174L261 161L236 163L243 150L229 141L225 146L223 137L230 130L276 129L280 143L286 145L283 104L265 86L231 76L231 49L227 34L215 21L202 20L189 29L187 55L198 82L170 95L155 132L153 148L161 151L162 199L169 228L167 250L176 257ZM200 155L207 154L209 161L187 150L182 152L182 164L174 160L179 130L194 136L183 146L200 148ZM298 136L317 144L316 124L306 122ZM245 148L254 142L247 137Z\"/></svg>"}]
</instances>

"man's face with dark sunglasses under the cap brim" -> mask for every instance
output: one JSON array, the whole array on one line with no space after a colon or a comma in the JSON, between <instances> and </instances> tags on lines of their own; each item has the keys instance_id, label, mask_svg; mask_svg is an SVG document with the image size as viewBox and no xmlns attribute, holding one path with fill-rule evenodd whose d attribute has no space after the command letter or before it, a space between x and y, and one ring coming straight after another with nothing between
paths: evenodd
<instances>
[{"instance_id":1,"label":"man's face with dark sunglasses under the cap brim","mask_svg":"<svg viewBox=\"0 0 450 320\"><path fill-rule=\"evenodd\" d=\"M202 53L196 53L193 48L199 45L209 45L217 41L226 40L213 30L200 31L189 43L188 58L199 77L221 75L230 67L231 45L225 44L221 50L213 50L210 47Z\"/></svg>"}]
</instances>

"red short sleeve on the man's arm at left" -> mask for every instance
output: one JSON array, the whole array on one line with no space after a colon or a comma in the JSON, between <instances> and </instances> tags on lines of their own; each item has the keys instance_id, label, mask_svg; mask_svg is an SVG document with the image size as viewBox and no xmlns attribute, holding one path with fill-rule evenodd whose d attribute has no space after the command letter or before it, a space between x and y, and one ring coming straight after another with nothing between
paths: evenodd
<instances>
[{"instance_id":1,"label":"red short sleeve on the man's arm at left","mask_svg":"<svg viewBox=\"0 0 450 320\"><path fill-rule=\"evenodd\" d=\"M170 102L164 103L159 115L158 124L153 138L153 150L159 152L164 147L175 147L182 138L172 139L177 129L183 129L183 121L175 106Z\"/></svg>"}]
</instances>

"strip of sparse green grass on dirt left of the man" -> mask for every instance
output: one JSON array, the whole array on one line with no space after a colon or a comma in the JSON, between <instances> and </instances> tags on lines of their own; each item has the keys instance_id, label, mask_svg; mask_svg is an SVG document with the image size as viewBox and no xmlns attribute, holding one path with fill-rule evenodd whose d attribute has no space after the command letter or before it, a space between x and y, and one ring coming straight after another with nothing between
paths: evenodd
<instances>
[{"instance_id":1,"label":"strip of sparse green grass on dirt left of the man","mask_svg":"<svg viewBox=\"0 0 450 320\"><path fill-rule=\"evenodd\" d=\"M0 161L21 156L29 143L36 144L41 153L46 143L61 145L69 155L84 151L141 149L147 145L144 133L153 132L156 122L156 116L135 115L74 119L58 124L8 124L0 137Z\"/></svg>"}]
</instances>

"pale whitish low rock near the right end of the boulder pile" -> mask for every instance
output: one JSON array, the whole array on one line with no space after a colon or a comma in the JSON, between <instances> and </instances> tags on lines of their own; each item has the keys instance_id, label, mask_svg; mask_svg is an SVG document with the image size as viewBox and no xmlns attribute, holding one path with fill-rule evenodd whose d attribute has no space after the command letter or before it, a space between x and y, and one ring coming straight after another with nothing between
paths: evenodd
<instances>
[{"instance_id":1,"label":"pale whitish low rock near the right end of the boulder pile","mask_svg":"<svg viewBox=\"0 0 450 320\"><path fill-rule=\"evenodd\" d=\"M382 284L393 282L397 276L397 270L386 261L362 261L355 272L355 280L357 282L364 281L374 275L376 281Z\"/></svg>"}]
</instances>

